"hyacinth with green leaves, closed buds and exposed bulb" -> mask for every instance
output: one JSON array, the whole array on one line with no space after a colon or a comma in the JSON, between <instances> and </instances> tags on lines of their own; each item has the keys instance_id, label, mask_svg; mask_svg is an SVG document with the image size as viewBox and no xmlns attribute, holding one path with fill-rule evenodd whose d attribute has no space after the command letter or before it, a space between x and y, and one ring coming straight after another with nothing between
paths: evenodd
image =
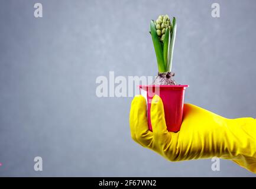
<instances>
[{"instance_id":1,"label":"hyacinth with green leaves, closed buds and exposed bulb","mask_svg":"<svg viewBox=\"0 0 256 189\"><path fill-rule=\"evenodd\" d=\"M157 56L158 76L154 84L176 84L171 76L173 48L176 37L176 18L170 21L168 15L160 15L156 21L150 22L150 34Z\"/></svg>"}]
</instances>

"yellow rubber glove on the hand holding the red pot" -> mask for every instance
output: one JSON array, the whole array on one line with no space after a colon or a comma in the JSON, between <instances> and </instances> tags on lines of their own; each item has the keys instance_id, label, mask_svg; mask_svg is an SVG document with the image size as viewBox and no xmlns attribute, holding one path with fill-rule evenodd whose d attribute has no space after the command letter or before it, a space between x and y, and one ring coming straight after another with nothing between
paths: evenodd
<instances>
[{"instance_id":1,"label":"yellow rubber glove on the hand holding the red pot","mask_svg":"<svg viewBox=\"0 0 256 189\"><path fill-rule=\"evenodd\" d=\"M219 157L231 159L256 173L256 120L226 119L195 105L185 104L177 133L168 132L163 102L155 95L151 104L153 132L148 130L144 97L135 96L130 112L131 137L170 161Z\"/></svg>"}]
</instances>

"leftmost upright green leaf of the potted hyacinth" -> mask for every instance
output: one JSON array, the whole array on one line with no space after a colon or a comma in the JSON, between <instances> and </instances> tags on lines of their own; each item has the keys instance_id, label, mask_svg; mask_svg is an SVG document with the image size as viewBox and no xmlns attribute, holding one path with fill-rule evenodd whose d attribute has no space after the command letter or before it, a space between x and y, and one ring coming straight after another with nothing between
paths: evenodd
<instances>
[{"instance_id":1,"label":"leftmost upright green leaf of the potted hyacinth","mask_svg":"<svg viewBox=\"0 0 256 189\"><path fill-rule=\"evenodd\" d=\"M155 55L157 56L157 64L159 72L166 72L166 64L164 63L163 47L160 43L159 37L157 35L157 29L155 28L155 23L153 20L150 22L150 32L153 40Z\"/></svg>"}]
</instances>

